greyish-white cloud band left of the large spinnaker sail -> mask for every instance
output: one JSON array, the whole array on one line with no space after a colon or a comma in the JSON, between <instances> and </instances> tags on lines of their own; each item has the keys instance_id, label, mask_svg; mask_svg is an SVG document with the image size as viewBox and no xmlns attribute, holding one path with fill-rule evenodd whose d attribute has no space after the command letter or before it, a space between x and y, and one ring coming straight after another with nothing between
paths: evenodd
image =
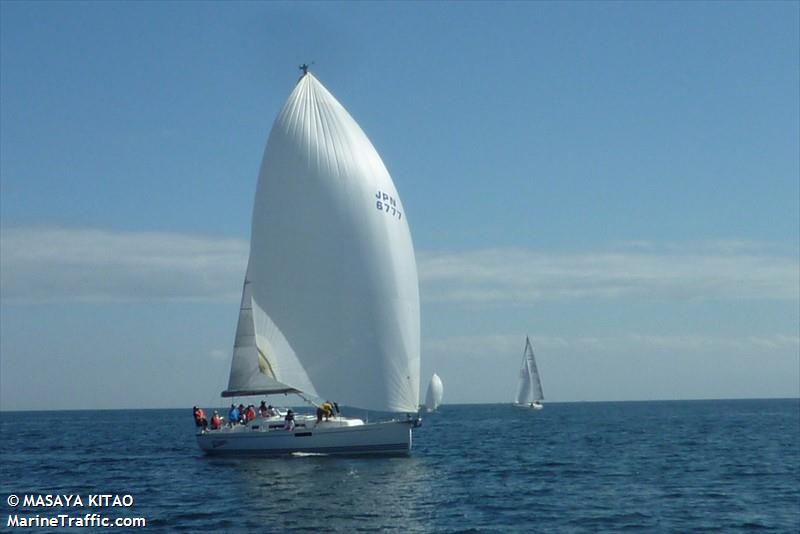
<instances>
[{"instance_id":1,"label":"greyish-white cloud band left of the large spinnaker sail","mask_svg":"<svg viewBox=\"0 0 800 534\"><path fill-rule=\"evenodd\" d=\"M0 289L4 300L25 302L237 299L247 251L241 239L3 229Z\"/></svg>"}]
</instances>

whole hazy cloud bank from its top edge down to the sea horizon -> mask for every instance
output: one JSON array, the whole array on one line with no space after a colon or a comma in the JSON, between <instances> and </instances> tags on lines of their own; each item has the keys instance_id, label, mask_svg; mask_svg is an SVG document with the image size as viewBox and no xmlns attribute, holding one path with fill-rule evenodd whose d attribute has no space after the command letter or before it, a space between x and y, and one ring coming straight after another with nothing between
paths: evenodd
<instances>
[{"instance_id":1,"label":"whole hazy cloud bank from its top edge down to the sea horizon","mask_svg":"<svg viewBox=\"0 0 800 534\"><path fill-rule=\"evenodd\" d=\"M99 383L102 394L117 398L113 407L180 406L198 391L213 405L227 377L225 343L232 340L247 254L247 241L236 238L3 228L5 327L17 324L15 317L46 327L47 313L81 310L67 318L73 326L66 331L3 337L3 409L53 402L19 404L11 375L29 376L30 387L65 408L91 406L97 391L75 389L63 377L109 366L113 374ZM773 244L424 250L417 261L423 383L436 371L448 402L502 400L525 334L534 341L549 400L787 396L800 384L792 371L800 336L786 321L791 312L780 311L797 305L800 267L796 252ZM769 310L765 321L757 320L759 308ZM609 313L617 315L603 320ZM150 330L130 323L149 315ZM70 346L79 347L81 359L68 356ZM185 380L181 370L198 364L208 372ZM163 382L146 401L127 378L143 367L160 369L153 377ZM615 379L602 379L609 376Z\"/></svg>"}]
</instances>

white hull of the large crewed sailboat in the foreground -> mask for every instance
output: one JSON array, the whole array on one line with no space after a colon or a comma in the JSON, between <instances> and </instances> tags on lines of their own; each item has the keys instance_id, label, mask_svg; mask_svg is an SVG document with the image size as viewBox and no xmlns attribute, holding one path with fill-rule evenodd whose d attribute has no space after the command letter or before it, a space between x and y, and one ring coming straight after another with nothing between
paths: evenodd
<instances>
[{"instance_id":1,"label":"white hull of the large crewed sailboat in the foreground","mask_svg":"<svg viewBox=\"0 0 800 534\"><path fill-rule=\"evenodd\" d=\"M299 418L294 430L284 430L279 418L256 419L248 425L197 434L206 454L274 456L291 453L405 455L411 451L415 420L364 424L334 418L319 424Z\"/></svg>"}]
</instances>

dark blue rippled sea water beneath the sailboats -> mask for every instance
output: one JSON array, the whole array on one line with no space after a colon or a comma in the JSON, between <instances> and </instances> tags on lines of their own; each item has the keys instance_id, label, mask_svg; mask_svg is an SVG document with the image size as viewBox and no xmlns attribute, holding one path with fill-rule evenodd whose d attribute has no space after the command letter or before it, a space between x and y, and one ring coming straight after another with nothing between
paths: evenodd
<instances>
[{"instance_id":1,"label":"dark blue rippled sea water beneath the sailboats","mask_svg":"<svg viewBox=\"0 0 800 534\"><path fill-rule=\"evenodd\" d=\"M12 514L89 512L148 532L800 531L799 399L445 405L399 458L206 457L190 408L3 412L0 438L8 532L72 530L9 527Z\"/></svg>"}]
</instances>

